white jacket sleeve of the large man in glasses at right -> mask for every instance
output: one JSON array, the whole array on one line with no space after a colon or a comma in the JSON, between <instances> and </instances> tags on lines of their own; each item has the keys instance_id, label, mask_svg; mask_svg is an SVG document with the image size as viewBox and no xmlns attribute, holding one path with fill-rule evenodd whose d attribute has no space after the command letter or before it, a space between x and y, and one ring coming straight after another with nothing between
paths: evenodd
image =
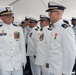
<instances>
[{"instance_id":1,"label":"white jacket sleeve of the large man in glasses at right","mask_svg":"<svg viewBox=\"0 0 76 75\"><path fill-rule=\"evenodd\" d=\"M62 33L63 68L62 74L70 75L75 61L75 36L68 27Z\"/></svg>"}]
</instances>

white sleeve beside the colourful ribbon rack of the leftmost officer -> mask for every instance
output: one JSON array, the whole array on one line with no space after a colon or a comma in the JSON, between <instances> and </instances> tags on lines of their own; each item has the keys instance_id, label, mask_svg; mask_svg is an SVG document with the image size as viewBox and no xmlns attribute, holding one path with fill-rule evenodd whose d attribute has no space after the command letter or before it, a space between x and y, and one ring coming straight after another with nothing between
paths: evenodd
<instances>
[{"instance_id":1,"label":"white sleeve beside the colourful ribbon rack of the leftmost officer","mask_svg":"<svg viewBox=\"0 0 76 75\"><path fill-rule=\"evenodd\" d=\"M20 28L20 49L21 49L21 53L22 53L22 63L26 64L25 38L23 35L22 28Z\"/></svg>"}]
</instances>

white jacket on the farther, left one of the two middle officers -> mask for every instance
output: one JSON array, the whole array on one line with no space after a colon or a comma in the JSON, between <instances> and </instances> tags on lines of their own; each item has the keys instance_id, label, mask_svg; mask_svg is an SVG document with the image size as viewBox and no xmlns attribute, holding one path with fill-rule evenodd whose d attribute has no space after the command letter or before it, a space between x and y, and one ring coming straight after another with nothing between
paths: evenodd
<instances>
[{"instance_id":1,"label":"white jacket on the farther, left one of the two middle officers","mask_svg":"<svg viewBox=\"0 0 76 75\"><path fill-rule=\"evenodd\" d=\"M38 35L39 30L37 26L33 27L28 35L28 49L27 49L27 55L28 56L36 56L36 47L38 42Z\"/></svg>"}]
</instances>

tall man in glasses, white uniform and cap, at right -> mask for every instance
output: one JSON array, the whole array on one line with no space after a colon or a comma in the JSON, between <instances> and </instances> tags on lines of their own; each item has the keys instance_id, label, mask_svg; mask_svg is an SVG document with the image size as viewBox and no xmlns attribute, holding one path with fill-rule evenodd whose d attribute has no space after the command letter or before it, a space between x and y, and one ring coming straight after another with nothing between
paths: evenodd
<instances>
[{"instance_id":1,"label":"tall man in glasses, white uniform and cap, at right","mask_svg":"<svg viewBox=\"0 0 76 75\"><path fill-rule=\"evenodd\" d=\"M62 20L65 7L48 3L49 17L54 25L50 37L50 75L71 75L75 63L75 35L72 28Z\"/></svg>"}]
</instances>

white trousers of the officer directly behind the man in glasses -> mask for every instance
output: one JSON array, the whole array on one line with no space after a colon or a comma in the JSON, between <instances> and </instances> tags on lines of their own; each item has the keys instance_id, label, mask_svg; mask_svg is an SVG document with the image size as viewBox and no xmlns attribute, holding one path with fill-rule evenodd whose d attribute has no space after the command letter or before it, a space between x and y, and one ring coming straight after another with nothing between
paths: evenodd
<instances>
[{"instance_id":1,"label":"white trousers of the officer directly behind the man in glasses","mask_svg":"<svg viewBox=\"0 0 76 75\"><path fill-rule=\"evenodd\" d=\"M48 68L45 66L37 65L37 75L50 75Z\"/></svg>"}]
</instances>

